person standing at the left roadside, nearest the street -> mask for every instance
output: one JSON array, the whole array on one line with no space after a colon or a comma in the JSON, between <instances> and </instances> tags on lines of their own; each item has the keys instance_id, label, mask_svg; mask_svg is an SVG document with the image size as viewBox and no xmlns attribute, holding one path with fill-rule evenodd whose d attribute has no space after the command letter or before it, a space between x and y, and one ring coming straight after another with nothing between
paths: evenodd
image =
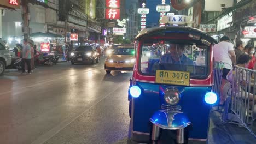
<instances>
[{"instance_id":1,"label":"person standing at the left roadside, nearest the street","mask_svg":"<svg viewBox=\"0 0 256 144\"><path fill-rule=\"evenodd\" d=\"M23 40L24 47L22 49L22 74L25 74L25 64L27 64L27 74L31 74L31 46L27 39Z\"/></svg>"}]
</instances>

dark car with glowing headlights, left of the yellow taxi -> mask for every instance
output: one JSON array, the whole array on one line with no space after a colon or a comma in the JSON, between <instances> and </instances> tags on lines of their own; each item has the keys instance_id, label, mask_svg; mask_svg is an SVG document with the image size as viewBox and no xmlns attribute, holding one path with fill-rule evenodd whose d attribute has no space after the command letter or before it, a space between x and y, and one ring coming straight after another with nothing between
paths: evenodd
<instances>
[{"instance_id":1,"label":"dark car with glowing headlights, left of the yellow taxi","mask_svg":"<svg viewBox=\"0 0 256 144\"><path fill-rule=\"evenodd\" d=\"M100 54L93 46L79 46L71 52L71 64L75 63L98 63Z\"/></svg>"}]
</instances>

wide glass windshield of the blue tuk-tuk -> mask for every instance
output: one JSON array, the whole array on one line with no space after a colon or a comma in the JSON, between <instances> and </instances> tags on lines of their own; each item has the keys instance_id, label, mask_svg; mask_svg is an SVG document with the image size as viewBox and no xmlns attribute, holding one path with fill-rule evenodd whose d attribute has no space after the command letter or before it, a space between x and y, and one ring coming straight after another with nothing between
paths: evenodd
<instances>
[{"instance_id":1,"label":"wide glass windshield of the blue tuk-tuk","mask_svg":"<svg viewBox=\"0 0 256 144\"><path fill-rule=\"evenodd\" d=\"M155 75L156 70L188 71L190 77L203 79L208 75L208 46L179 41L147 40L141 49L140 70ZM147 48L146 48L147 47Z\"/></svg>"}]
</instances>

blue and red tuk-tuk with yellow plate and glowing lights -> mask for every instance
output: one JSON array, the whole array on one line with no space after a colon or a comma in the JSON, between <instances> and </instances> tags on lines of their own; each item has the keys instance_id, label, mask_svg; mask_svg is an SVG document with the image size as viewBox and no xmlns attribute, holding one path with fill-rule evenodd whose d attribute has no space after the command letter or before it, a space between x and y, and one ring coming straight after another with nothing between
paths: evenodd
<instances>
[{"instance_id":1,"label":"blue and red tuk-tuk with yellow plate and glowing lights","mask_svg":"<svg viewBox=\"0 0 256 144\"><path fill-rule=\"evenodd\" d=\"M128 94L133 141L207 143L211 105L218 100L212 91L214 43L190 27L155 27L136 36ZM142 55L150 45L160 52ZM194 49L203 51L195 59Z\"/></svg>"}]
</instances>

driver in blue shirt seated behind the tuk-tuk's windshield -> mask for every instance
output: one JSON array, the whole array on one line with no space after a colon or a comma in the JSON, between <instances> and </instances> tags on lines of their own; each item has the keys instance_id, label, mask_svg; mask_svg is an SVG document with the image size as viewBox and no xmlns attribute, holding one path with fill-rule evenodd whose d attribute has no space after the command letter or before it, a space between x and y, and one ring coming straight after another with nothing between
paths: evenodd
<instances>
[{"instance_id":1,"label":"driver in blue shirt seated behind the tuk-tuk's windshield","mask_svg":"<svg viewBox=\"0 0 256 144\"><path fill-rule=\"evenodd\" d=\"M170 44L170 53L165 53L160 58L160 63L194 65L193 61L184 55L185 46L183 44Z\"/></svg>"}]
</instances>

